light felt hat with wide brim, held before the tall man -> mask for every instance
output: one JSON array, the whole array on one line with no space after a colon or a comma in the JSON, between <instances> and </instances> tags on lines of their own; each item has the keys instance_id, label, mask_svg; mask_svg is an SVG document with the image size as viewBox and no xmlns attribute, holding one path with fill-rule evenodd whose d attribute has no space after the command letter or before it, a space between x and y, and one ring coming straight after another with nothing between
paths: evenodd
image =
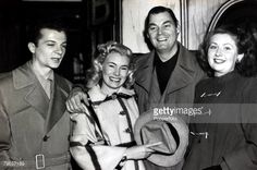
<instances>
[{"instance_id":1,"label":"light felt hat with wide brim, held before the tall man","mask_svg":"<svg viewBox=\"0 0 257 170\"><path fill-rule=\"evenodd\" d=\"M183 160L188 145L188 127L178 116L155 117L152 110L139 116L135 123L135 141L138 145L155 144L147 159L161 167L171 167Z\"/></svg>"}]
</instances>

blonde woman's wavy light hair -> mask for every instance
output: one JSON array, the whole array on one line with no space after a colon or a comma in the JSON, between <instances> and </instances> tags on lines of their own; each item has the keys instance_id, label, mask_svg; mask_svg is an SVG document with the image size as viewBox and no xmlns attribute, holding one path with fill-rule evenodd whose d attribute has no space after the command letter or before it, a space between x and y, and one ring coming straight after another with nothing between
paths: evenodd
<instances>
[{"instance_id":1,"label":"blonde woman's wavy light hair","mask_svg":"<svg viewBox=\"0 0 257 170\"><path fill-rule=\"evenodd\" d=\"M91 68L86 72L86 87L91 88L97 84L102 83L102 63L110 53L120 53L121 56L126 56L130 59L128 65L128 75L126 82L124 83L124 87L130 88L134 84L134 72L135 72L135 63L133 58L132 50L126 46L119 44L117 41L108 41L107 44L101 44L97 46L98 54L93 60Z\"/></svg>"}]
</instances>

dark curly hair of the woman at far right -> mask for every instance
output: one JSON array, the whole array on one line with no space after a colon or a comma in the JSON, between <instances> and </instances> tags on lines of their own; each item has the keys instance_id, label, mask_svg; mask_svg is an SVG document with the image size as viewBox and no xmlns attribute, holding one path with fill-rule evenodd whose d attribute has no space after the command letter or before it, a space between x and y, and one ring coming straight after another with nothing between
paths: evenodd
<instances>
[{"instance_id":1,"label":"dark curly hair of the woman at far right","mask_svg":"<svg viewBox=\"0 0 257 170\"><path fill-rule=\"evenodd\" d=\"M199 46L197 52L197 60L203 70L209 75L215 76L215 71L208 63L208 49L210 39L216 34L228 34L234 37L240 54L244 53L243 59L235 63L235 70L244 76L253 76L257 73L257 59L256 59L256 41L253 36L252 28L247 24L241 26L223 25L212 32L208 32L204 37L203 44Z\"/></svg>"}]
</instances>

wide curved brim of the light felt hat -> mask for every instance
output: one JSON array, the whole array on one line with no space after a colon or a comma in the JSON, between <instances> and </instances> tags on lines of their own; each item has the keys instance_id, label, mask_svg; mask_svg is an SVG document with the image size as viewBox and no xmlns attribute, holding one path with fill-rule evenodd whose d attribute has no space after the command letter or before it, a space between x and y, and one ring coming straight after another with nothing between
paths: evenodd
<instances>
[{"instance_id":1,"label":"wide curved brim of the light felt hat","mask_svg":"<svg viewBox=\"0 0 257 170\"><path fill-rule=\"evenodd\" d=\"M152 163L161 167L172 167L178 165L180 161L183 160L184 154L186 151L187 145L188 145L188 126L183 121L182 118L178 116L161 116L158 118L154 117L154 111L149 110L147 112L144 112L139 116L135 123L135 141L138 145L143 145L142 138L140 138L140 130L149 121L166 121L170 123L178 132L180 144L172 155L162 155L160 153L154 153L151 154L147 159L151 161Z\"/></svg>"}]
</instances>

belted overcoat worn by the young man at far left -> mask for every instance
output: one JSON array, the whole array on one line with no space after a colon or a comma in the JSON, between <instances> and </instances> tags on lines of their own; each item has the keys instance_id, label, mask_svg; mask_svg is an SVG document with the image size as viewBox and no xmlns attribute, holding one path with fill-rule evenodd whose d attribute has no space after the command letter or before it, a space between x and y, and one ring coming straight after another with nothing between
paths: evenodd
<instances>
[{"instance_id":1,"label":"belted overcoat worn by the young man at far left","mask_svg":"<svg viewBox=\"0 0 257 170\"><path fill-rule=\"evenodd\" d=\"M69 161L60 160L69 159L70 116L65 100L70 89L71 83L54 74L49 99L28 63L0 80L2 167L15 169L12 162L16 162L19 168L36 169L35 156L42 154L46 166L48 159L57 159L56 166L46 169L70 169Z\"/></svg>"}]
</instances>

